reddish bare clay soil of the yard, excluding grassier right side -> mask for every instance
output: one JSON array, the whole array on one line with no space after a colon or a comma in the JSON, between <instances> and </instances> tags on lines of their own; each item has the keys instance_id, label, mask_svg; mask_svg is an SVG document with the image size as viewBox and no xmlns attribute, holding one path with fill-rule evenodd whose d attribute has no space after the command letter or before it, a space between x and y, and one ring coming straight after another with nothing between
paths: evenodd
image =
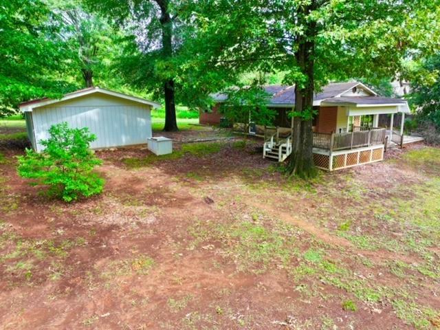
<instances>
[{"instance_id":1,"label":"reddish bare clay soil of the yard, excluding grassier right side","mask_svg":"<svg viewBox=\"0 0 440 330\"><path fill-rule=\"evenodd\" d=\"M0 237L8 237L0 241L0 257L17 252L19 242L24 247L0 259L0 329L321 329L329 320L328 329L412 329L390 305L378 310L359 303L358 311L346 311L342 302L353 296L343 289L307 279L296 283L276 265L262 274L237 272L219 242L192 244L195 222L221 223L261 207L257 199L231 201L236 196L228 193L241 185L234 175L242 168L267 170L274 164L252 148L229 147L136 170L122 159L147 151L100 152L100 173L107 179L103 195L72 204L29 186L8 153L0 165L1 201L9 205L0 217ZM186 176L195 170L205 175L203 183ZM273 179L267 171L259 175L256 181ZM279 210L274 215L295 219ZM331 253L350 248L327 230L290 222L302 229L301 250L316 238L336 245ZM137 272L140 256L154 261L144 273ZM20 261L32 265L28 277ZM303 294L298 285L315 293Z\"/></svg>"}]
</instances>

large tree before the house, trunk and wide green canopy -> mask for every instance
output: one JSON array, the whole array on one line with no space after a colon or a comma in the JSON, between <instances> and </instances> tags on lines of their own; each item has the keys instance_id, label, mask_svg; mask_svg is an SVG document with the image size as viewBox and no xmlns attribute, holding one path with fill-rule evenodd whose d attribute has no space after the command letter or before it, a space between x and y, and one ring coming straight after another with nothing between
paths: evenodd
<instances>
[{"instance_id":1,"label":"large tree before the house, trunk and wide green canopy","mask_svg":"<svg viewBox=\"0 0 440 330\"><path fill-rule=\"evenodd\" d=\"M401 72L401 59L439 44L438 0L189 1L201 64L242 72L286 72L295 85L289 170L315 173L313 96L331 80L380 81ZM197 47L196 47L197 48ZM195 64L197 67L197 64Z\"/></svg>"}]
</instances>

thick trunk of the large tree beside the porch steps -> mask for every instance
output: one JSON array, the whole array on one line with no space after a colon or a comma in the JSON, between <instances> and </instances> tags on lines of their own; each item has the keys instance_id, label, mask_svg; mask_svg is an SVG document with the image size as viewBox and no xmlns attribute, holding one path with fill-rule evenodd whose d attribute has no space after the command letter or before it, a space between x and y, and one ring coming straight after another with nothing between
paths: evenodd
<instances>
[{"instance_id":1,"label":"thick trunk of the large tree beside the porch steps","mask_svg":"<svg viewBox=\"0 0 440 330\"><path fill-rule=\"evenodd\" d=\"M303 7L301 17L309 14L313 6ZM289 172L303 178L314 177L316 168L313 159L313 131L312 116L314 104L314 31L313 22L305 23L305 35L298 37L298 50L296 51L296 62L301 72L307 77L305 83L296 83L295 86L295 113L294 132L292 139L292 156L289 162Z\"/></svg>"}]
</instances>

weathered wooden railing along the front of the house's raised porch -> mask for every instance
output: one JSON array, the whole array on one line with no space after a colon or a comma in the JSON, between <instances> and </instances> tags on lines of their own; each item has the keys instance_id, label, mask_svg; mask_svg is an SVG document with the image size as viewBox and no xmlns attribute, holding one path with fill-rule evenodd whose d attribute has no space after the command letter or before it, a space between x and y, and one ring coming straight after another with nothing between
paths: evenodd
<instances>
[{"instance_id":1,"label":"weathered wooden railing along the front of the house's raised porch","mask_svg":"<svg viewBox=\"0 0 440 330\"><path fill-rule=\"evenodd\" d=\"M384 144L386 129L369 129L351 133L314 133L314 147L331 151Z\"/></svg>"}]
</instances>

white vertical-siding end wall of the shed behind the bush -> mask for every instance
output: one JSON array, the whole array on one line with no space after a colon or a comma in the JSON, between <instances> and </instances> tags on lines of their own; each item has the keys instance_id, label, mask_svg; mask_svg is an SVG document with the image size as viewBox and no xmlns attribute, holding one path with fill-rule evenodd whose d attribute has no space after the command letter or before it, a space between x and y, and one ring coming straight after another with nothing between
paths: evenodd
<instances>
[{"instance_id":1,"label":"white vertical-siding end wall of the shed behind the bush","mask_svg":"<svg viewBox=\"0 0 440 330\"><path fill-rule=\"evenodd\" d=\"M88 127L96 135L92 148L146 144L151 137L151 113L148 105L108 96L85 96L32 111L36 151L41 140L49 137L53 124L67 122L70 127Z\"/></svg>"}]
</instances>

